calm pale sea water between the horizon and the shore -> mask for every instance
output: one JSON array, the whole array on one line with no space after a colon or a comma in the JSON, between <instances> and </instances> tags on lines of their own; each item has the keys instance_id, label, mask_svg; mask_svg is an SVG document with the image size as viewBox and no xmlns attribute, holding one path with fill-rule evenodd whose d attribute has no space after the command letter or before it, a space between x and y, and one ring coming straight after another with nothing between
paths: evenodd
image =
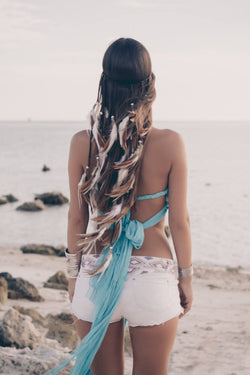
<instances>
[{"instance_id":1,"label":"calm pale sea water between the horizon and the shore","mask_svg":"<svg viewBox=\"0 0 250 375\"><path fill-rule=\"evenodd\" d=\"M34 194L69 197L67 160L72 135L85 122L1 122L0 246L66 244L68 204L16 211ZM188 159L188 209L193 261L250 270L250 122L156 122L182 134ZM43 164L51 171L42 172ZM166 218L167 222L167 218ZM172 249L173 244L171 243Z\"/></svg>"}]
</instances>

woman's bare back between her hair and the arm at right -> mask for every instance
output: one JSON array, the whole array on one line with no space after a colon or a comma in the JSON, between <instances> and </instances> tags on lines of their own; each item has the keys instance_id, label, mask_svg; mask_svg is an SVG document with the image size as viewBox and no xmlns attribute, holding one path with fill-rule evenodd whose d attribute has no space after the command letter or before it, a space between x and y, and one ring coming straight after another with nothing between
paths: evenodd
<instances>
[{"instance_id":1,"label":"woman's bare back between her hair and the arm at right","mask_svg":"<svg viewBox=\"0 0 250 375\"><path fill-rule=\"evenodd\" d=\"M139 176L138 195L163 191L168 186L171 169L171 150L169 139L171 130L152 128L145 145ZM131 210L131 218L144 222L160 211L165 196L155 199L136 201ZM152 255L172 258L168 239L164 231L163 218L159 223L144 232L144 242L140 249L133 249L133 255Z\"/></svg>"}]
</instances>

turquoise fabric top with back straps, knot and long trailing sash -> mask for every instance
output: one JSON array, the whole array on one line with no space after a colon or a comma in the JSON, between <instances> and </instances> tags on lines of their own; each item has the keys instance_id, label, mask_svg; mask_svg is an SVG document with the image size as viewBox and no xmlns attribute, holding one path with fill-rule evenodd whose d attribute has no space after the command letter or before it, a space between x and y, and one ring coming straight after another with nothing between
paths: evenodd
<instances>
[{"instance_id":1,"label":"turquoise fabric top with back straps, knot and long trailing sash","mask_svg":"<svg viewBox=\"0 0 250 375\"><path fill-rule=\"evenodd\" d=\"M130 220L130 211L122 218L122 231L113 245L111 262L101 279L95 275L89 280L88 298L93 302L92 325L89 333L79 341L78 347L70 356L61 361L52 370L44 375L55 375L72 359L76 358L75 365L70 371L73 375L91 375L90 366L105 336L110 319L119 302L124 283L128 280L128 267L133 248L139 249L144 241L144 230L157 224L165 216L168 209L168 188L155 194L138 196L137 200L154 199L166 196L164 207L148 220ZM96 266L102 264L107 257L110 246L103 248L97 258ZM125 319L124 329L127 320Z\"/></svg>"}]
</instances>

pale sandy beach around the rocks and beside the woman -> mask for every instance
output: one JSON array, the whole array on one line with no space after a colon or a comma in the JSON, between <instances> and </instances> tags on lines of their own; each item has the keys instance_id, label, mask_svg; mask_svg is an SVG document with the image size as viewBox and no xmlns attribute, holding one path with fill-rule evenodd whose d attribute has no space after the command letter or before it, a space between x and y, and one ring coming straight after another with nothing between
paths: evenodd
<instances>
[{"instance_id":1,"label":"pale sandy beach around the rocks and beside the woman","mask_svg":"<svg viewBox=\"0 0 250 375\"><path fill-rule=\"evenodd\" d=\"M8 299L0 308L0 321L14 305L33 308L44 317L69 312L67 291L44 288L43 283L59 270L64 258L23 254L19 248L0 247L0 272L22 277L33 283L42 302ZM170 375L247 375L250 373L250 275L240 268L208 269L196 266L194 303L179 322L169 369ZM2 348L3 349L3 348ZM6 348L2 355L17 356L17 349ZM126 375L132 374L132 358L126 353ZM22 374L20 369L16 374ZM6 366L1 374L10 374Z\"/></svg>"}]
</instances>

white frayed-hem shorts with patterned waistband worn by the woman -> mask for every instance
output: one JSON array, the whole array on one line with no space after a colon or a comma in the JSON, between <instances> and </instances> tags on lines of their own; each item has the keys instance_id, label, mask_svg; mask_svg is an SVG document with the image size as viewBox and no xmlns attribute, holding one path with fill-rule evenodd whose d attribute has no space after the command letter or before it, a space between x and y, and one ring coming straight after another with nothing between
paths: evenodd
<instances>
[{"instance_id":1,"label":"white frayed-hem shorts with patterned waistband worn by the woman","mask_svg":"<svg viewBox=\"0 0 250 375\"><path fill-rule=\"evenodd\" d=\"M86 270L93 268L98 256L83 255L71 304L71 313L89 322L92 322L93 303L86 296L91 277ZM131 256L128 276L110 323L126 318L130 327L150 326L162 324L184 311L172 259Z\"/></svg>"}]
</instances>

